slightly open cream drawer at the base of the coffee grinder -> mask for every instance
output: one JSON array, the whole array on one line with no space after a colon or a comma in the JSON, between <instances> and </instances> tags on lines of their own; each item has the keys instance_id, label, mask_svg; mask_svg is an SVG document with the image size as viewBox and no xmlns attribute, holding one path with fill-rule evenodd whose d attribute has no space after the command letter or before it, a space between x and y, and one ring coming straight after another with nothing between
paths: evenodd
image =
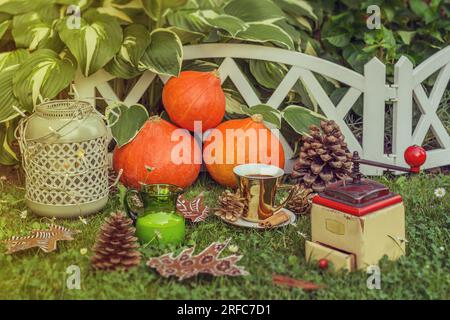
<instances>
[{"instance_id":1,"label":"slightly open cream drawer at the base of the coffee grinder","mask_svg":"<svg viewBox=\"0 0 450 320\"><path fill-rule=\"evenodd\" d=\"M333 263L336 271L341 269L354 271L356 269L354 254L345 253L317 242L306 241L305 255L308 262L327 259Z\"/></svg>"}]
</instances>

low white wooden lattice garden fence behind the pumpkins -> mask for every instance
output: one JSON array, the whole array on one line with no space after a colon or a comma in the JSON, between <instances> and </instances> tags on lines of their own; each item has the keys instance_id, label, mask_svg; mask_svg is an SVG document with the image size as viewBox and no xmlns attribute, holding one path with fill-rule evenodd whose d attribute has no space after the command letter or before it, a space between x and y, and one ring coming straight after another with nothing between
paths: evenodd
<instances>
[{"instance_id":1,"label":"low white wooden lattice garden fence behind the pumpkins","mask_svg":"<svg viewBox=\"0 0 450 320\"><path fill-rule=\"evenodd\" d=\"M247 44L201 44L184 47L184 60L225 58L219 68L222 82L228 77L249 106L266 103L278 108L294 84L301 79L308 91L317 101L323 113L335 120L342 128L351 151L358 151L362 157L383 163L405 165L404 150L412 144L420 145L428 129L433 133L442 148L428 153L424 168L450 164L450 136L436 115L442 95L450 78L450 46L428 58L413 69L412 63L402 57L395 65L394 84L386 83L386 66L373 58L364 66L364 73L359 74L335 63L299 52L278 48L268 48ZM267 101L260 101L245 75L233 59L258 59L290 65L291 68L278 88ZM434 72L440 70L436 83L429 97L425 94L422 82ZM335 79L349 87L341 101L334 105L320 85L314 73ZM124 99L125 104L137 103L144 95L156 75L145 72ZM118 101L119 98L108 84L114 77L101 70L89 78L77 76L75 86L79 98L95 97L95 89L107 99ZM167 77L161 77L163 82ZM362 145L344 121L345 116L357 99L363 95L363 141ZM414 132L412 130L413 98L423 115ZM394 102L393 119L393 154L384 153L385 103ZM91 99L95 104L95 100ZM291 158L293 150L281 137L286 158ZM292 169L292 161L286 164L286 170ZM372 167L362 168L367 175L379 175L382 170Z\"/></svg>"}]
</instances>

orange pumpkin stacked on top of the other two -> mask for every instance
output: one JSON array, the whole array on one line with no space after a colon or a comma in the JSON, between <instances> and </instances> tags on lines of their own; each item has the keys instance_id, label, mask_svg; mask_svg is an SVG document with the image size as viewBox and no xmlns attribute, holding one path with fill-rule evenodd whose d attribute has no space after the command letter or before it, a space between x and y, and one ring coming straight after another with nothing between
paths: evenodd
<instances>
[{"instance_id":1,"label":"orange pumpkin stacked on top of the other two","mask_svg":"<svg viewBox=\"0 0 450 320\"><path fill-rule=\"evenodd\" d=\"M225 115L225 94L215 72L181 72L164 86L162 101L170 120L190 131L194 131L194 121L201 121L204 132L221 123Z\"/></svg>"}]
</instances>

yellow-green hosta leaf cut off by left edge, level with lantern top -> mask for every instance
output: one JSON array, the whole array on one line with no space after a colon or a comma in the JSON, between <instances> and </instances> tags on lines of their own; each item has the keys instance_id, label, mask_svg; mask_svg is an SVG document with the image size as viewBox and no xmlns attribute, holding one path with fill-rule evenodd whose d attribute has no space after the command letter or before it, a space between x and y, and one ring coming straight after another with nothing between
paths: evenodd
<instances>
[{"instance_id":1,"label":"yellow-green hosta leaf cut off by left edge, level with lantern top","mask_svg":"<svg viewBox=\"0 0 450 320\"><path fill-rule=\"evenodd\" d=\"M13 92L13 77L19 70L20 63L28 56L28 51L24 49L0 54L0 123L18 115L13 106L22 109Z\"/></svg>"}]
</instances>

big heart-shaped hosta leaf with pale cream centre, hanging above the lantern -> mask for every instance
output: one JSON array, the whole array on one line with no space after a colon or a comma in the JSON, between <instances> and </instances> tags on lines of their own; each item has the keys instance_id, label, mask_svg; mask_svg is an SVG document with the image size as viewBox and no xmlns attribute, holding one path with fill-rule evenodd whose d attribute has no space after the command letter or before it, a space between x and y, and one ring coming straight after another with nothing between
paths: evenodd
<instances>
[{"instance_id":1,"label":"big heart-shaped hosta leaf with pale cream centre, hanging above the lantern","mask_svg":"<svg viewBox=\"0 0 450 320\"><path fill-rule=\"evenodd\" d=\"M87 77L103 68L120 50L122 28L116 18L95 10L83 14L79 29L73 28L71 18L59 23L59 35Z\"/></svg>"}]
</instances>

